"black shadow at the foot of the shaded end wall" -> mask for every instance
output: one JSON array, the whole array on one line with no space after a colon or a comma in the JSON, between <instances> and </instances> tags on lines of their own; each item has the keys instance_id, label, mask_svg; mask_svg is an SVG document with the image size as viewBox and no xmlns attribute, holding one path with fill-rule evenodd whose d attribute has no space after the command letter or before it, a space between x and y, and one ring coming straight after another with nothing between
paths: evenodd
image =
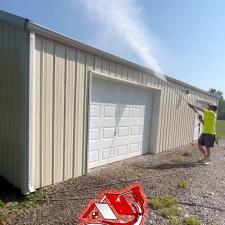
<instances>
[{"instance_id":1,"label":"black shadow at the foot of the shaded end wall","mask_svg":"<svg viewBox=\"0 0 225 225\"><path fill-rule=\"evenodd\" d=\"M9 182L7 182L3 177L0 176L0 201L4 203L23 201L25 197L21 195L20 190Z\"/></svg>"}]
</instances>

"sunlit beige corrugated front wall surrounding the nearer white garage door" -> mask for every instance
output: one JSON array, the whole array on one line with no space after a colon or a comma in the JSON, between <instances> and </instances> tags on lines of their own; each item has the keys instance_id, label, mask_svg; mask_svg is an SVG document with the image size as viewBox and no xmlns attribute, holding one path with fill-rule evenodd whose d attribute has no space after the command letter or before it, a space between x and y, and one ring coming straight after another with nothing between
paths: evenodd
<instances>
[{"instance_id":1,"label":"sunlit beige corrugated front wall surrounding the nearer white garage door","mask_svg":"<svg viewBox=\"0 0 225 225\"><path fill-rule=\"evenodd\" d=\"M177 94L184 95L185 86L36 35L36 188L85 171L90 70L162 89L157 152L192 142L194 113ZM192 103L197 98L215 102L213 97L190 91L185 98Z\"/></svg>"}]
</instances>

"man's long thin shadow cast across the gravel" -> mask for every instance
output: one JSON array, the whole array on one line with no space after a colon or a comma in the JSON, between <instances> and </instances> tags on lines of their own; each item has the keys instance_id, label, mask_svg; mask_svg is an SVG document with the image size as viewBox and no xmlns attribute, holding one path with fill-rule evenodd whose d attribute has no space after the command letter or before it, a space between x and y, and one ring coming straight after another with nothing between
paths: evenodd
<instances>
[{"instance_id":1,"label":"man's long thin shadow cast across the gravel","mask_svg":"<svg viewBox=\"0 0 225 225\"><path fill-rule=\"evenodd\" d=\"M138 166L143 169L154 169L154 170L168 170L168 169L179 169L179 168L192 168L201 166L198 162L187 162L187 163L162 163L153 166Z\"/></svg>"}]
</instances>

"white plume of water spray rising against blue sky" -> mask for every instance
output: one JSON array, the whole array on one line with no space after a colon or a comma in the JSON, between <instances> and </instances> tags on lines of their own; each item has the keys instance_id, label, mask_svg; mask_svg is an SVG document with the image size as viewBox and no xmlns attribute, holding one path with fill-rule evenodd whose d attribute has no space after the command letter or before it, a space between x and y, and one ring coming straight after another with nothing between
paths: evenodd
<instances>
[{"instance_id":1,"label":"white plume of water spray rising against blue sky","mask_svg":"<svg viewBox=\"0 0 225 225\"><path fill-rule=\"evenodd\" d=\"M143 63L162 73L152 54L153 34L140 18L142 12L138 0L79 0L89 16L98 23L100 32L116 37L116 41L128 45ZM104 36L104 35L103 35Z\"/></svg>"}]
</instances>

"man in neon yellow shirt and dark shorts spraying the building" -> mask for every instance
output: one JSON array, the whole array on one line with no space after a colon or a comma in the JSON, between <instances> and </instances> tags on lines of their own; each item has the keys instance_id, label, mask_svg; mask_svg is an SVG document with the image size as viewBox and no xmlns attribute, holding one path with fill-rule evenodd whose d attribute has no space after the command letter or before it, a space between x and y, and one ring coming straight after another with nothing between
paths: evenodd
<instances>
[{"instance_id":1,"label":"man in neon yellow shirt and dark shorts spraying the building","mask_svg":"<svg viewBox=\"0 0 225 225\"><path fill-rule=\"evenodd\" d=\"M202 120L203 123L203 131L198 139L198 148L201 153L204 155L200 162L204 164L209 164L211 158L211 148L214 147L215 137L216 137L216 105L208 104L208 109L202 109L196 107L192 104L188 104L194 111L198 110L203 112L204 119Z\"/></svg>"}]
</instances>

